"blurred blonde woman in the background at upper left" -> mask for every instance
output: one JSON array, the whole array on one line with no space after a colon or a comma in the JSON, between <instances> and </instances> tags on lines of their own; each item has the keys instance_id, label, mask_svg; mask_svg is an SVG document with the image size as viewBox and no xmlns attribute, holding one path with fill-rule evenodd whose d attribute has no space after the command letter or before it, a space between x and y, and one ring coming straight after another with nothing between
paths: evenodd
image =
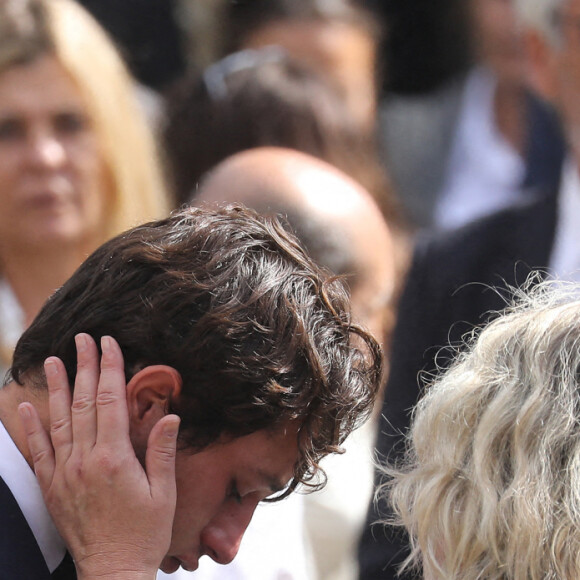
<instances>
[{"instance_id":1,"label":"blurred blonde woman in the background at upper left","mask_svg":"<svg viewBox=\"0 0 580 580\"><path fill-rule=\"evenodd\" d=\"M71 0L0 0L0 369L87 254L168 207L134 83L101 27Z\"/></svg>"}]
</instances>

